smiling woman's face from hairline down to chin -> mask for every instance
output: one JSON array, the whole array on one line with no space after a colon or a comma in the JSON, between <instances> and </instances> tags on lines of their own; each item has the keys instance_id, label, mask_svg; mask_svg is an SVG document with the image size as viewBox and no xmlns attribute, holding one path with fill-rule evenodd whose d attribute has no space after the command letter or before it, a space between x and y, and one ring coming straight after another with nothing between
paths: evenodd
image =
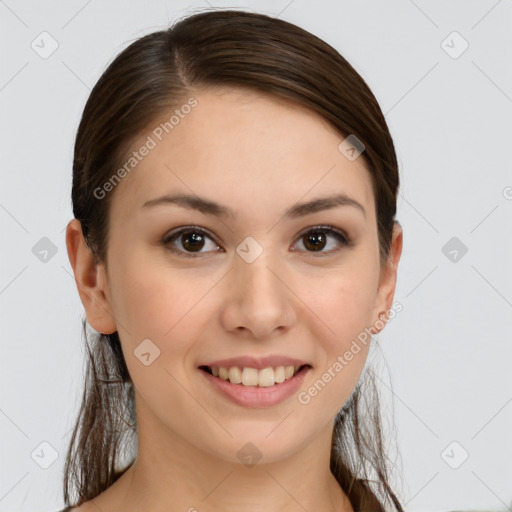
<instances>
[{"instance_id":1,"label":"smiling woman's face from hairline down to chin","mask_svg":"<svg viewBox=\"0 0 512 512\"><path fill-rule=\"evenodd\" d=\"M155 442L167 432L227 461L276 461L330 439L367 357L358 335L390 307L395 275L379 265L370 175L340 151L344 137L256 92L194 97L169 133L173 112L141 135L140 161L109 192L105 313L88 319L118 331L139 429ZM160 200L177 194L189 199ZM350 201L299 207L338 195ZM239 358L254 358L238 361L251 386L200 368ZM302 364L272 387L282 370L256 372Z\"/></svg>"}]
</instances>

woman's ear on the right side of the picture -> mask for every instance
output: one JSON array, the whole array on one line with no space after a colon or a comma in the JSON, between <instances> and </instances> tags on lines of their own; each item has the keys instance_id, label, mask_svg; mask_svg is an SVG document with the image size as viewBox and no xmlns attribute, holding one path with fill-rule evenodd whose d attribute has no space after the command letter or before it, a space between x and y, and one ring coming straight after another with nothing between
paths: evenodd
<instances>
[{"instance_id":1,"label":"woman's ear on the right side of the picture","mask_svg":"<svg viewBox=\"0 0 512 512\"><path fill-rule=\"evenodd\" d=\"M373 334L379 333L384 328L388 321L389 310L393 306L398 262L402 255L402 241L402 227L398 221L395 221L389 256L386 264L382 267L380 274L377 299L375 301L375 309L373 310L372 327L370 329Z\"/></svg>"}]
</instances>

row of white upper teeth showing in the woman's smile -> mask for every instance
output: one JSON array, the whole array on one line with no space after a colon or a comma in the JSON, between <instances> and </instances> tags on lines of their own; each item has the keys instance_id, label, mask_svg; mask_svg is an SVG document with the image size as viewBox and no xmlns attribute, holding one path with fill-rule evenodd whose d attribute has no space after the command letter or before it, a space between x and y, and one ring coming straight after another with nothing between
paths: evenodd
<instances>
[{"instance_id":1,"label":"row of white upper teeth showing in the woman's smile","mask_svg":"<svg viewBox=\"0 0 512 512\"><path fill-rule=\"evenodd\" d=\"M223 380L229 380L232 384L242 384L243 386L270 387L292 378L300 366L277 366L268 367L262 370L256 368L239 368L238 366L212 366L210 369L212 375Z\"/></svg>"}]
</instances>

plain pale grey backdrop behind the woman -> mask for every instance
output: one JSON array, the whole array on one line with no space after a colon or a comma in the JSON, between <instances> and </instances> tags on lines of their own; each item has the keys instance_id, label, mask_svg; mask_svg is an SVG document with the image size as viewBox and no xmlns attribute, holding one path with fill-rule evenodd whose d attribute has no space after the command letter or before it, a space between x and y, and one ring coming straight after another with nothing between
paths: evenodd
<instances>
[{"instance_id":1,"label":"plain pale grey backdrop behind the woman","mask_svg":"<svg viewBox=\"0 0 512 512\"><path fill-rule=\"evenodd\" d=\"M411 512L507 510L512 3L2 0L0 512L63 504L83 371L83 308L64 230L90 89L130 42L211 7L311 31L377 97L401 176L403 311L379 335L377 361L401 498Z\"/></svg>"}]
</instances>

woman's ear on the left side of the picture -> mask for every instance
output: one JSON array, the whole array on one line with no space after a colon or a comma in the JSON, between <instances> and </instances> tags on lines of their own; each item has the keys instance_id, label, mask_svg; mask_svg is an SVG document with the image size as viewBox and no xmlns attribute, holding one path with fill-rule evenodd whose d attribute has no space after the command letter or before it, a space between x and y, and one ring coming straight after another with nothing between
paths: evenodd
<instances>
[{"instance_id":1,"label":"woman's ear on the left side of the picture","mask_svg":"<svg viewBox=\"0 0 512 512\"><path fill-rule=\"evenodd\" d=\"M66 246L87 322L100 333L112 334L117 327L107 298L109 294L105 266L96 262L77 219L71 220L67 225Z\"/></svg>"}]
</instances>

